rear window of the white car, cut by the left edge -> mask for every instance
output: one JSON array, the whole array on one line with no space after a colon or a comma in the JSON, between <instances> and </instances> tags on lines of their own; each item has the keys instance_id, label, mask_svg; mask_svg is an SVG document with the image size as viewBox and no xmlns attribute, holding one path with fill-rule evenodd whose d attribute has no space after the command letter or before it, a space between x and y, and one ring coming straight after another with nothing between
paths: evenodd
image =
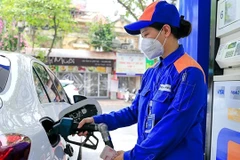
<instances>
[{"instance_id":1,"label":"rear window of the white car, cut by the left edge","mask_svg":"<svg viewBox=\"0 0 240 160\"><path fill-rule=\"evenodd\" d=\"M4 90L10 73L10 61L0 56L0 93Z\"/></svg>"}]
</instances>

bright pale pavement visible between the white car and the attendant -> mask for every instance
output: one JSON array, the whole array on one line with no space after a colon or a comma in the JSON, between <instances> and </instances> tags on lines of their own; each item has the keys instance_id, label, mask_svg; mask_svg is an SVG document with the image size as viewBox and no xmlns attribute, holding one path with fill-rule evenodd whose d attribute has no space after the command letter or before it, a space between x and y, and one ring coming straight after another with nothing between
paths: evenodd
<instances>
[{"instance_id":1,"label":"bright pale pavement visible between the white car and the attendant","mask_svg":"<svg viewBox=\"0 0 240 160\"><path fill-rule=\"evenodd\" d=\"M129 106L124 100L98 100L102 106L104 113L117 111L121 108ZM115 150L130 150L134 147L137 140L137 126L133 125L126 128L117 129L110 132ZM99 155L104 148L104 143L100 134L96 134L99 138L99 146L97 150L83 148L83 160L100 160Z\"/></svg>"}]
</instances>

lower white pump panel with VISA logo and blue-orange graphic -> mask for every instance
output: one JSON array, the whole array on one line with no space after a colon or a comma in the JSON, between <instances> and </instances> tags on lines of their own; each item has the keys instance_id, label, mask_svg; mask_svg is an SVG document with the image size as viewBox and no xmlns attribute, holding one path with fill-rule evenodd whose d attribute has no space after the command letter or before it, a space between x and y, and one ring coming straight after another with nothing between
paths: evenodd
<instances>
[{"instance_id":1,"label":"lower white pump panel with VISA logo and blue-orange graphic","mask_svg":"<svg viewBox=\"0 0 240 160\"><path fill-rule=\"evenodd\" d=\"M240 81L215 82L211 159L240 159Z\"/></svg>"}]
</instances>

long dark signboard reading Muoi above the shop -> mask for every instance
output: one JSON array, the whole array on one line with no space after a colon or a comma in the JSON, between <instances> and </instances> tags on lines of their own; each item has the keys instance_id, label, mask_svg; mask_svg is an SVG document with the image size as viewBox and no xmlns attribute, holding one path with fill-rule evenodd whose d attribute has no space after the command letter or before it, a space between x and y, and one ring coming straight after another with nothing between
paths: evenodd
<instances>
[{"instance_id":1,"label":"long dark signboard reading Muoi above the shop","mask_svg":"<svg viewBox=\"0 0 240 160\"><path fill-rule=\"evenodd\" d=\"M114 60L49 57L51 65L113 67Z\"/></svg>"}]
</instances>

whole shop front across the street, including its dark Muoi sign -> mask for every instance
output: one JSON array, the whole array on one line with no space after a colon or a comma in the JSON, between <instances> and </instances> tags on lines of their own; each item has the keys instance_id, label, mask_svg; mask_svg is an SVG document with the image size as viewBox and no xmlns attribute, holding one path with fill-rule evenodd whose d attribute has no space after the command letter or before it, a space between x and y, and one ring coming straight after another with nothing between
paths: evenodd
<instances>
[{"instance_id":1,"label":"whole shop front across the street, including its dark Muoi sign","mask_svg":"<svg viewBox=\"0 0 240 160\"><path fill-rule=\"evenodd\" d=\"M49 66L60 80L74 81L79 94L91 98L108 98L115 54L73 50L51 53ZM87 54L86 54L87 53Z\"/></svg>"}]
</instances>

